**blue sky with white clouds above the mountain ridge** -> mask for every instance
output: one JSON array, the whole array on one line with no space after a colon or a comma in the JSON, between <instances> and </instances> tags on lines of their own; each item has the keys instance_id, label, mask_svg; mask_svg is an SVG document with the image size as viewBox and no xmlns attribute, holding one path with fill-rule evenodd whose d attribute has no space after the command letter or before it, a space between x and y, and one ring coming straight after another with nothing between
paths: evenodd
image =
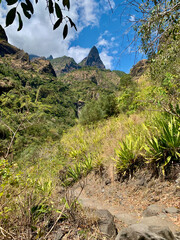
<instances>
[{"instance_id":1,"label":"blue sky with white clouds above the mountain ridge","mask_svg":"<svg viewBox=\"0 0 180 240\"><path fill-rule=\"evenodd\" d=\"M31 0L34 3L34 0ZM59 1L60 2L60 1ZM59 3L58 2L58 3ZM23 17L23 29L17 31L18 19L5 28L9 43L29 54L53 58L64 55L79 63L96 46L107 69L129 73L130 69L145 56L138 50L139 42L132 39L131 28L136 19L132 7L125 7L126 0L71 0L70 11L63 10L76 24L77 31L69 28L63 40L63 24L53 31L53 16L49 16L46 1L34 3L34 15ZM13 6L11 6L12 8ZM0 24L5 27L5 16L10 7L2 1ZM21 13L21 7L19 7ZM23 16L23 14L22 14Z\"/></svg>"}]
</instances>

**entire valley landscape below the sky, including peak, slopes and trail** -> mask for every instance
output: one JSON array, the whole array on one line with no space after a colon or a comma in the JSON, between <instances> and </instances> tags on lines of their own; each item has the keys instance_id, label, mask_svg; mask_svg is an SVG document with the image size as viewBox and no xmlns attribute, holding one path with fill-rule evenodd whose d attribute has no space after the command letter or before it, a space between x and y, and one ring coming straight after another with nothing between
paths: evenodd
<instances>
[{"instance_id":1,"label":"entire valley landscape below the sky, including peak, slopes and trail","mask_svg":"<svg viewBox=\"0 0 180 240\"><path fill-rule=\"evenodd\" d=\"M0 28L2 240L180 239L180 39L129 74ZM167 40L169 41L169 40Z\"/></svg>"}]
</instances>

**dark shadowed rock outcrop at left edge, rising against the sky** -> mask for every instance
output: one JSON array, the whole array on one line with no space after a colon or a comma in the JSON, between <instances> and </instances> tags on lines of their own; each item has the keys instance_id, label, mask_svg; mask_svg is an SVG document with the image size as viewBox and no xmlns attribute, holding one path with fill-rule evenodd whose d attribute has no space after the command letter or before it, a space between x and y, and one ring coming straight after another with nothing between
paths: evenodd
<instances>
[{"instance_id":1,"label":"dark shadowed rock outcrop at left edge, rising against the sky","mask_svg":"<svg viewBox=\"0 0 180 240\"><path fill-rule=\"evenodd\" d=\"M19 49L8 43L7 35L0 25L0 56L4 57L6 54L15 54Z\"/></svg>"}]
</instances>

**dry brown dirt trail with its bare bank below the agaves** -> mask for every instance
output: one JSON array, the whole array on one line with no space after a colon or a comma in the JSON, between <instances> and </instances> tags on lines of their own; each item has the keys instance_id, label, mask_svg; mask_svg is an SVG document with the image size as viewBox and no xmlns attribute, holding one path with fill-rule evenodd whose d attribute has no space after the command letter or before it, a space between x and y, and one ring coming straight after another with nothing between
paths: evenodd
<instances>
[{"instance_id":1,"label":"dry brown dirt trail with its bare bank below the agaves","mask_svg":"<svg viewBox=\"0 0 180 240\"><path fill-rule=\"evenodd\" d=\"M112 182L107 174L105 178L90 174L80 185L74 186L73 194L79 196L79 202L84 207L92 209L107 209L115 216L118 229L137 223L142 212L151 204L180 208L180 196L176 186L170 182L151 180L147 185L142 179L132 179L128 183ZM167 214L180 228L180 214Z\"/></svg>"}]
</instances>

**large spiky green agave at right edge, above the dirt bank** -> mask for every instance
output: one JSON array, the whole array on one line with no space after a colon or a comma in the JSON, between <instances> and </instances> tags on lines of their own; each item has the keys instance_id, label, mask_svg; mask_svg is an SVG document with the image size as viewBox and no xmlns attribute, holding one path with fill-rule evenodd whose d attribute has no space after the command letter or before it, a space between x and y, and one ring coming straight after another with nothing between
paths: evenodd
<instances>
[{"instance_id":1,"label":"large spiky green agave at right edge, above the dirt bank","mask_svg":"<svg viewBox=\"0 0 180 240\"><path fill-rule=\"evenodd\" d=\"M175 118L162 120L158 128L160 134L147 139L148 162L166 175L171 164L180 162L180 123Z\"/></svg>"}]
</instances>

